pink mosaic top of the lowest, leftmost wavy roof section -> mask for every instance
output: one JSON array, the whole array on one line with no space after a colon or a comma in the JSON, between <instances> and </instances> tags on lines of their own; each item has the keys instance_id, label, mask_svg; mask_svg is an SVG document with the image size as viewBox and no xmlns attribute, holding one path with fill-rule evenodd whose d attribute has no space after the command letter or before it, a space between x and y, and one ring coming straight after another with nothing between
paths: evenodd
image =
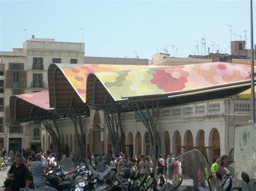
<instances>
[{"instance_id":1,"label":"pink mosaic top of the lowest, leftmost wavy roof section","mask_svg":"<svg viewBox=\"0 0 256 191\"><path fill-rule=\"evenodd\" d=\"M40 91L36 93L15 95L13 97L21 98L22 100L36 105L45 110L53 110L49 104L49 91Z\"/></svg>"}]
</instances>

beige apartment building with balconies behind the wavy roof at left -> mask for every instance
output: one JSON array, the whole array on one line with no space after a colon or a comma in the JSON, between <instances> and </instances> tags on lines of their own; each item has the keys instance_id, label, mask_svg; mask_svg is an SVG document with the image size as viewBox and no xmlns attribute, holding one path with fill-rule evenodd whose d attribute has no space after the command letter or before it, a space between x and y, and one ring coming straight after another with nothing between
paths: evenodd
<instances>
[{"instance_id":1,"label":"beige apartment building with balconies behind the wavy roof at left","mask_svg":"<svg viewBox=\"0 0 256 191\"><path fill-rule=\"evenodd\" d=\"M55 63L84 63L84 43L56 42L32 36L23 48L0 52L0 148L41 148L40 122L9 122L11 95L48 90L48 67ZM9 139L9 143L8 143Z\"/></svg>"}]
</instances>

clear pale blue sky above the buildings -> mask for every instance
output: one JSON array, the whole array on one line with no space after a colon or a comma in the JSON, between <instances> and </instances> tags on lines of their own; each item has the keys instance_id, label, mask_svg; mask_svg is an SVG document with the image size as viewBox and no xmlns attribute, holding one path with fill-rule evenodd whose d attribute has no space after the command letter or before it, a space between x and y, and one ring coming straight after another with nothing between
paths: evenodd
<instances>
[{"instance_id":1,"label":"clear pale blue sky above the buildings","mask_svg":"<svg viewBox=\"0 0 256 191\"><path fill-rule=\"evenodd\" d=\"M0 51L22 48L34 34L85 43L85 56L151 60L166 51L182 58L204 55L203 38L206 54L208 47L210 52L230 53L227 25L232 40L245 40L247 31L250 49L250 0L0 0L0 16Z\"/></svg>"}]
</instances>

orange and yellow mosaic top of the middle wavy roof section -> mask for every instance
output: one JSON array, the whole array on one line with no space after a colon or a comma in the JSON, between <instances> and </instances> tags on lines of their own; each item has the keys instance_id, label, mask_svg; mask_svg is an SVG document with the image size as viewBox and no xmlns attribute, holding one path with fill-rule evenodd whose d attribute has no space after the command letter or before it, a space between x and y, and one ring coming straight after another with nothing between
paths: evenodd
<instances>
[{"instance_id":1,"label":"orange and yellow mosaic top of the middle wavy roof section","mask_svg":"<svg viewBox=\"0 0 256 191\"><path fill-rule=\"evenodd\" d=\"M65 63L54 63L62 70L66 79L70 82L71 86L76 90L82 101L86 102L86 82L87 76L90 73L113 72L127 69L142 69L153 68L159 66L142 66L142 65L71 65Z\"/></svg>"}]
</instances>

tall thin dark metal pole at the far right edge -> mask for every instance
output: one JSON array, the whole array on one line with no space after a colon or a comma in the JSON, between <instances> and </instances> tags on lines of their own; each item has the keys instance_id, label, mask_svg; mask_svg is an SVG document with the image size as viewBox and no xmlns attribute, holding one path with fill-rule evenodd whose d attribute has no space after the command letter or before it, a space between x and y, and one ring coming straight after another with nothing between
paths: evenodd
<instances>
[{"instance_id":1,"label":"tall thin dark metal pole at the far right edge","mask_svg":"<svg viewBox=\"0 0 256 191\"><path fill-rule=\"evenodd\" d=\"M251 104L252 104L252 121L255 123L255 102L254 102L254 51L253 51L253 19L252 19L252 0L250 0L251 10Z\"/></svg>"}]
</instances>

